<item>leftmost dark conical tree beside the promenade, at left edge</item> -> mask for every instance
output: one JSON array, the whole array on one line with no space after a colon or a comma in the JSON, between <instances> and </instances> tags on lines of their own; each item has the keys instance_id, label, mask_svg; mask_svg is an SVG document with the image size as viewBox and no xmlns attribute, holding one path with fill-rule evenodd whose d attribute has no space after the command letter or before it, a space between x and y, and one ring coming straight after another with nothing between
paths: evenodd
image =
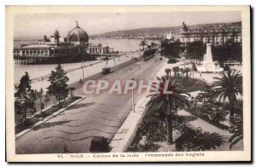
<instances>
[{"instance_id":1,"label":"leftmost dark conical tree beside the promenade, at left edge","mask_svg":"<svg viewBox=\"0 0 256 167\"><path fill-rule=\"evenodd\" d=\"M23 115L25 124L27 124L27 114L36 112L35 101L36 95L34 90L31 89L31 79L28 72L25 72L15 92L15 112Z\"/></svg>"}]
</instances>

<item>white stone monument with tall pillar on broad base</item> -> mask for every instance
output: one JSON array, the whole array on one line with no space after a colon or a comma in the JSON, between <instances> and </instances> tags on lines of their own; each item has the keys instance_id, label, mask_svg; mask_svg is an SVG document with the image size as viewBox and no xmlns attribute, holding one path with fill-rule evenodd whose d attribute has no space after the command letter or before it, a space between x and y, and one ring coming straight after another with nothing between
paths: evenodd
<instances>
[{"instance_id":1,"label":"white stone monument with tall pillar on broad base","mask_svg":"<svg viewBox=\"0 0 256 167\"><path fill-rule=\"evenodd\" d=\"M212 60L212 43L207 43L207 54L204 55L202 66L197 67L198 72L223 72L223 68L215 65Z\"/></svg>"}]
</instances>

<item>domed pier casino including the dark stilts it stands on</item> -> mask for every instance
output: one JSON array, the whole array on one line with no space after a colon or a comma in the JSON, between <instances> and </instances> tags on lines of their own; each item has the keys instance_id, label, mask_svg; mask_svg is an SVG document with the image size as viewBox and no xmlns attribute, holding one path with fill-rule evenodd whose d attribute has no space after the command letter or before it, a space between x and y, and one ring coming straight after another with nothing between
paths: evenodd
<instances>
[{"instance_id":1,"label":"domed pier casino including the dark stilts it stands on","mask_svg":"<svg viewBox=\"0 0 256 167\"><path fill-rule=\"evenodd\" d=\"M44 39L37 43L21 44L19 48L14 49L15 63L27 64L35 61L46 63L55 63L55 61L88 60L92 55L111 54L113 49L102 44L90 44L89 36L79 26L79 23L68 32L67 37L61 37L58 30L50 37L44 36ZM59 59L58 59L59 58ZM21 62L20 62L21 61Z\"/></svg>"}]
</instances>

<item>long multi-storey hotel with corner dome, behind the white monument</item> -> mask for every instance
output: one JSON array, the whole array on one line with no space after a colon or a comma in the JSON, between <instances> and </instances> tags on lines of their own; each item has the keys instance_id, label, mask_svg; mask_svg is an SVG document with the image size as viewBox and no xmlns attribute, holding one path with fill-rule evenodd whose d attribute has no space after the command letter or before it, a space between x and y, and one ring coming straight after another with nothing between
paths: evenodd
<instances>
[{"instance_id":1,"label":"long multi-storey hotel with corner dome, behind the white monument","mask_svg":"<svg viewBox=\"0 0 256 167\"><path fill-rule=\"evenodd\" d=\"M189 30L188 26L183 22L183 25L180 27L179 40L184 44L202 41L203 43L212 43L215 46L222 45L228 41L241 43L241 26Z\"/></svg>"}]
</instances>

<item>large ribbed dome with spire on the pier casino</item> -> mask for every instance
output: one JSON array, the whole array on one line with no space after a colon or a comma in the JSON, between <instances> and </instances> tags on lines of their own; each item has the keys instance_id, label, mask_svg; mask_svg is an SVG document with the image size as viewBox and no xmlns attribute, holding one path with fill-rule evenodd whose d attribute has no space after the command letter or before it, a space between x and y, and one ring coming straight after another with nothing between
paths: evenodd
<instances>
[{"instance_id":1,"label":"large ribbed dome with spire on the pier casino","mask_svg":"<svg viewBox=\"0 0 256 167\"><path fill-rule=\"evenodd\" d=\"M87 32L84 31L84 29L79 27L79 23L77 21L77 26L73 28L70 32L67 34L67 40L69 42L85 42L88 43L89 37Z\"/></svg>"}]
</instances>

